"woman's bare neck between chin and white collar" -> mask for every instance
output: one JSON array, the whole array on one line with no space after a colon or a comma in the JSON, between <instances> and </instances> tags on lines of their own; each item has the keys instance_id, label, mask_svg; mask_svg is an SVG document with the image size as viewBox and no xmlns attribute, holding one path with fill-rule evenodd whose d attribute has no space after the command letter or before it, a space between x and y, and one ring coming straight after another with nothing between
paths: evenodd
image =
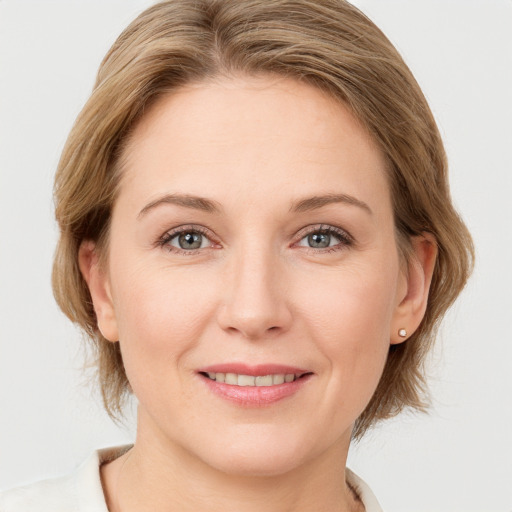
<instances>
[{"instance_id":1,"label":"woman's bare neck between chin and white collar","mask_svg":"<svg viewBox=\"0 0 512 512\"><path fill-rule=\"evenodd\" d=\"M349 439L278 475L219 471L180 446L137 435L134 447L102 467L111 512L353 512L364 510L346 484Z\"/></svg>"}]
</instances>

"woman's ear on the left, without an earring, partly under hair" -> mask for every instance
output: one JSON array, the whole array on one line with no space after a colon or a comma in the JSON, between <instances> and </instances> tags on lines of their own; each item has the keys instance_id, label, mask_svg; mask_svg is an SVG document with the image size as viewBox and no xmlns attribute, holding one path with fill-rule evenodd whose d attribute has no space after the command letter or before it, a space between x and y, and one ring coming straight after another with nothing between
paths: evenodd
<instances>
[{"instance_id":1,"label":"woman's ear on the left, without an earring, partly under hair","mask_svg":"<svg viewBox=\"0 0 512 512\"><path fill-rule=\"evenodd\" d=\"M96 244L90 240L81 243L78 250L78 265L91 294L98 329L112 342L119 340L114 303L110 291L108 273L100 264Z\"/></svg>"}]
</instances>

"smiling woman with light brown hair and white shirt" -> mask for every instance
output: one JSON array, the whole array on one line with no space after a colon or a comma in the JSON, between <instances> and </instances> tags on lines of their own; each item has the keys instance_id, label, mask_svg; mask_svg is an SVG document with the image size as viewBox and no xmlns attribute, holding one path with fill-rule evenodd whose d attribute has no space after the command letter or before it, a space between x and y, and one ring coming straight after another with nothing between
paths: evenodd
<instances>
[{"instance_id":1,"label":"smiling woman with light brown hair and white shirt","mask_svg":"<svg viewBox=\"0 0 512 512\"><path fill-rule=\"evenodd\" d=\"M55 197L57 300L109 413L136 396L137 437L1 510L380 510L350 441L425 407L472 247L426 101L364 15L148 9L102 63Z\"/></svg>"}]
</instances>

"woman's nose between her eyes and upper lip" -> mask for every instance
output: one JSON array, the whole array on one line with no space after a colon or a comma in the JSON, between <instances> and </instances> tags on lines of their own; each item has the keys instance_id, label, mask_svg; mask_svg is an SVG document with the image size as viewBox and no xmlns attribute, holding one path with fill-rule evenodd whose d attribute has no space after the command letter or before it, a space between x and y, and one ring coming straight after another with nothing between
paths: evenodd
<instances>
[{"instance_id":1,"label":"woman's nose between her eyes and upper lip","mask_svg":"<svg viewBox=\"0 0 512 512\"><path fill-rule=\"evenodd\" d=\"M250 340L274 337L289 329L292 314L279 258L265 251L240 251L228 266L218 323Z\"/></svg>"}]
</instances>

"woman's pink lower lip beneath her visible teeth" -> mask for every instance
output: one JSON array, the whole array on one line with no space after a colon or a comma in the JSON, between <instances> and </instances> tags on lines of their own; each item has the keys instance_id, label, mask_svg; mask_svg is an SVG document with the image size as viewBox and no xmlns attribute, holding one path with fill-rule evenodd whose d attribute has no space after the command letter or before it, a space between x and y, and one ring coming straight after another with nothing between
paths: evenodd
<instances>
[{"instance_id":1,"label":"woman's pink lower lip beneath her visible teeth","mask_svg":"<svg viewBox=\"0 0 512 512\"><path fill-rule=\"evenodd\" d=\"M291 397L297 393L312 377L305 375L293 382L284 382L275 386L234 386L200 376L209 390L237 405L245 407L264 407Z\"/></svg>"}]
</instances>

